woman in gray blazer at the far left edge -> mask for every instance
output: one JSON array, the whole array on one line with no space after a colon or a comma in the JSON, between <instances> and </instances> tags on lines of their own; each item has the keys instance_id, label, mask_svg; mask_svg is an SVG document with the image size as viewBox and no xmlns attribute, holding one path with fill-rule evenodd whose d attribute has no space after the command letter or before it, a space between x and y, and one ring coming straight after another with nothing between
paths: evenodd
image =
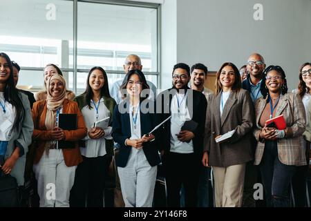
<instances>
[{"instance_id":1,"label":"woman in gray blazer at the far left edge","mask_svg":"<svg viewBox=\"0 0 311 221\"><path fill-rule=\"evenodd\" d=\"M10 57L0 53L0 159L1 172L10 174L23 186L26 153L33 123L28 97L14 84Z\"/></svg>"}]
</instances>

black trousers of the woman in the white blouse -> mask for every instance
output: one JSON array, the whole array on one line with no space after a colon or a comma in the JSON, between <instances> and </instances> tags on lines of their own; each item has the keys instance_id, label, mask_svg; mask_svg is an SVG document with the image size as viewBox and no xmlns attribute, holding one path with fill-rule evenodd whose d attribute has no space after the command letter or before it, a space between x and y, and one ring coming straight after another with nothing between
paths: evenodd
<instances>
[{"instance_id":1,"label":"black trousers of the woman in the white blouse","mask_svg":"<svg viewBox=\"0 0 311 221\"><path fill-rule=\"evenodd\" d=\"M75 183L70 191L71 207L102 207L107 155L83 157L75 171Z\"/></svg>"}]
</instances>

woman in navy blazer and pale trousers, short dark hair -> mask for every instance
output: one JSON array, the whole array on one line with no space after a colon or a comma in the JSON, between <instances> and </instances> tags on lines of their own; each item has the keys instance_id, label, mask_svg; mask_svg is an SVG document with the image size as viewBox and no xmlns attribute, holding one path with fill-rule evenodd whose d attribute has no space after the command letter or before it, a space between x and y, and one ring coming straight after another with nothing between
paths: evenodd
<instances>
[{"instance_id":1,"label":"woman in navy blazer and pale trousers, short dark hair","mask_svg":"<svg viewBox=\"0 0 311 221\"><path fill-rule=\"evenodd\" d=\"M113 139L120 144L116 159L126 207L151 207L156 184L158 137L147 135L157 124L151 101L144 106L143 90L149 90L140 70L130 70L120 89L126 88L123 102L115 106ZM146 92L146 91L144 91Z\"/></svg>"}]
</instances>

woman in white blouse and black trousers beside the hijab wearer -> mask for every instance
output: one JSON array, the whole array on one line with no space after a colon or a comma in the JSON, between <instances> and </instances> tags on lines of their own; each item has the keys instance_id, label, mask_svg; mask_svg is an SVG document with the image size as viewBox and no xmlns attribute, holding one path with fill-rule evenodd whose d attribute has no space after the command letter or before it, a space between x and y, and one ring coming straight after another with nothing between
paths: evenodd
<instances>
[{"instance_id":1,"label":"woman in white blouse and black trousers beside the hijab wearer","mask_svg":"<svg viewBox=\"0 0 311 221\"><path fill-rule=\"evenodd\" d=\"M111 124L116 105L109 94L108 78L103 68L91 68L86 90L75 98L75 102L82 111L88 135L80 142L83 162L77 166L70 206L102 207L105 177L113 155ZM95 122L107 117L109 125L106 128L100 127L103 125L95 127Z\"/></svg>"}]
</instances>

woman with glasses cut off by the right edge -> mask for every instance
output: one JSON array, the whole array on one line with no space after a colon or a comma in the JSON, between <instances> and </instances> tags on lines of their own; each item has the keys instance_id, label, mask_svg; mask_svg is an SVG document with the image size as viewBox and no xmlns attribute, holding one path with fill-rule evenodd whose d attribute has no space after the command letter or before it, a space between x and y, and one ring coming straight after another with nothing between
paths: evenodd
<instances>
[{"instance_id":1,"label":"woman with glasses cut off by the right edge","mask_svg":"<svg viewBox=\"0 0 311 221\"><path fill-rule=\"evenodd\" d=\"M294 201L296 207L304 207L306 204L306 182L310 161L310 142L311 142L311 130L310 130L310 115L308 114L308 106L311 97L311 63L304 63L299 68L299 86L298 90L294 90L299 94L305 107L305 122L307 127L303 133L303 149L305 150L305 157L307 165L298 166L296 173L292 177L292 190L294 191Z\"/></svg>"}]
</instances>

